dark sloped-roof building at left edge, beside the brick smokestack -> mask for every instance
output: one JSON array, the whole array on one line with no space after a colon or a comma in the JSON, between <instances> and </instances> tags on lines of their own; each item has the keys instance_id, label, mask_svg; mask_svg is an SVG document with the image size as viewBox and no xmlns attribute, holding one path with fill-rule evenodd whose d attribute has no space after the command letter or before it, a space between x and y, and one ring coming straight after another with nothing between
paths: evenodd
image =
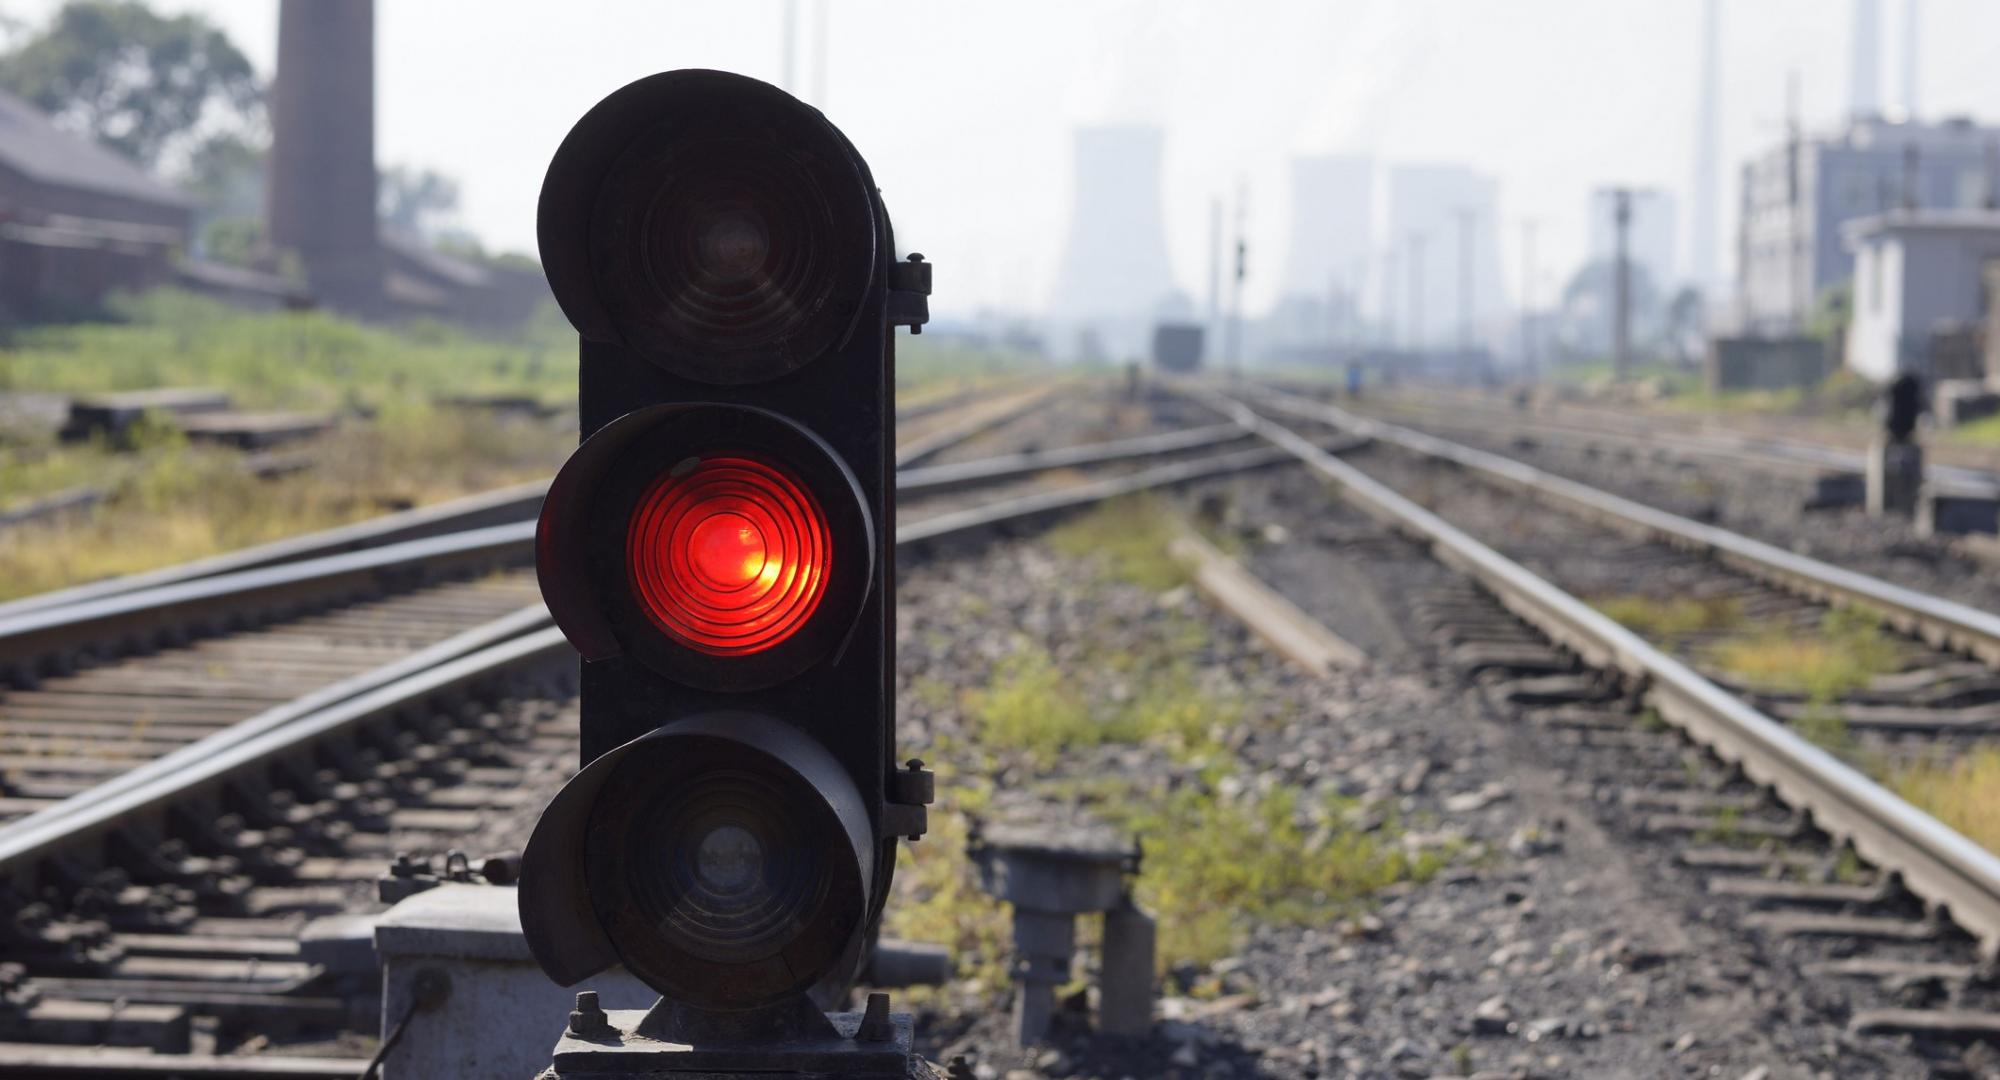
<instances>
[{"instance_id":1,"label":"dark sloped-roof building at left edge, beside the brick smokestack","mask_svg":"<svg viewBox=\"0 0 2000 1080\"><path fill-rule=\"evenodd\" d=\"M0 318L84 316L174 278L194 204L0 94Z\"/></svg>"}]
</instances>

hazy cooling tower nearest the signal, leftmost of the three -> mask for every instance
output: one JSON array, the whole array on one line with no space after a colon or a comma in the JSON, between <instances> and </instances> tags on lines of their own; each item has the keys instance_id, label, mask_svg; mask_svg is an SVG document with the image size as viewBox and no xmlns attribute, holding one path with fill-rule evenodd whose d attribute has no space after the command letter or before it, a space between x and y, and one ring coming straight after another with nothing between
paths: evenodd
<instances>
[{"instance_id":1,"label":"hazy cooling tower nearest the signal, leftmost of the three","mask_svg":"<svg viewBox=\"0 0 2000 1080\"><path fill-rule=\"evenodd\" d=\"M1048 300L1062 338L1126 358L1150 348L1154 314L1176 294L1160 156L1160 128L1078 128L1070 232Z\"/></svg>"}]
</instances>

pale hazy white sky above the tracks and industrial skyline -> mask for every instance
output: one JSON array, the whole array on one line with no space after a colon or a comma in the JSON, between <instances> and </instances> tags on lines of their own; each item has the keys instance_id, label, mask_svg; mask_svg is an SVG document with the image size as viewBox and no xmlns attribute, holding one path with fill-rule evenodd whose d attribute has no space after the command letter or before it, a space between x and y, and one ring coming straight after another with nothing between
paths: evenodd
<instances>
[{"instance_id":1,"label":"pale hazy white sky above the tracks and industrial skyline","mask_svg":"<svg viewBox=\"0 0 2000 1080\"><path fill-rule=\"evenodd\" d=\"M218 20L270 72L276 0L154 0ZM322 0L338 2L338 0ZM1902 4L1882 0L1882 100L1900 104ZM1920 104L2000 120L2000 2L1922 0ZM444 170L462 224L534 248L556 142L624 82L666 68L782 78L786 0L378 0L384 164ZM1536 290L1584 254L1590 188L1674 190L1690 218L1700 0L796 0L794 90L868 156L898 242L938 264L938 314L1046 302L1070 198L1070 134L1166 126L1168 248L1196 302L1208 200L1250 190L1248 306L1284 266L1286 160L1464 162L1500 180L1502 266L1540 220ZM56 0L0 0L40 20ZM1846 110L1848 0L1722 0L1722 228L1736 166L1784 128ZM1730 258L1724 232L1722 254Z\"/></svg>"}]
</instances>

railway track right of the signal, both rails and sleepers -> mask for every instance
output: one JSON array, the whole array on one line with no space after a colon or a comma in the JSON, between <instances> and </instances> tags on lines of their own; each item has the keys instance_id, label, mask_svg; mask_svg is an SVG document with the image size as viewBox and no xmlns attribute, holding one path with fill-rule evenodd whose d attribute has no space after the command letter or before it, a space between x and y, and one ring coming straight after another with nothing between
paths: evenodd
<instances>
[{"instance_id":1,"label":"railway track right of the signal, both rails and sleepers","mask_svg":"<svg viewBox=\"0 0 2000 1080\"><path fill-rule=\"evenodd\" d=\"M1506 476L1514 488L1548 480L1318 402L1270 392L1246 398L1260 412L1366 434L1482 478ZM1228 400L1212 400L1218 408L1236 408ZM1464 506L1464 484L1446 486L1436 470L1390 468L1372 454L1358 468L1272 420L1260 422L1260 434L1288 448L1368 516L1464 574L1462 584L1416 600L1448 664L1482 678L1504 712L1532 724L1538 738L1572 768L1596 776L1598 798L1616 802L1640 822L1644 834L1672 844L1678 862L1702 874L1712 896L1752 908L1742 918L1746 928L1808 942L1804 948L1812 950L1812 958L1806 972L1812 976L1876 986L1876 1004L1848 1018L1852 1034L1946 1044L2000 1036L1994 966L2000 956L2000 860L1992 852L1802 738L1786 724L1790 710L1780 708L1782 700L1706 678L1686 650L1642 638L1500 546L1476 538L1474 532L1508 530L1456 524L1476 516ZM1428 482L1438 484L1428 492L1434 508L1404 494ZM1564 484L1550 488L1560 494L1540 486L1526 490L1566 508L1586 494ZM1608 508L1630 512L1624 518L1628 528L1644 526L1660 534L1672 526L1682 546L1694 546L1686 534L1692 522L1666 522L1658 512L1600 498L1590 502L1600 514ZM1518 512L1520 500L1514 498L1514 504ZM1658 542L1650 542L1656 552L1646 558L1632 550L1628 534L1608 536L1622 540L1624 548L1600 548L1600 554L1620 560L1628 576L1672 576L1674 560L1692 558ZM1698 548L1704 562L1720 558L1752 566L1750 554L1772 554L1722 544L1714 534L1698 536L1708 540ZM1536 530L1526 534L1524 546L1548 538L1548 530ZM1576 550L1558 550L1544 562L1566 558L1574 560ZM1894 586L1812 566L1810 560L1766 560L1760 566L1768 580L1782 580L1786 590L1794 590L1778 604L1796 606L1800 596L1810 596L1890 616L1886 604L1896 600L1896 616L1940 644L1970 642L1972 626L1980 622L1976 616L1982 616L1934 598L1898 596ZM1778 566L1784 568L1782 578ZM1738 580L1748 578L1738 572ZM1752 588L1776 592L1762 580L1754 580ZM1914 638L1910 644L1922 648ZM1940 652L1912 658L1916 664L1924 660L1938 660L1938 668L1908 668L1904 684L1948 684L1952 676L1990 682L1990 672L1974 674L1964 660ZM1760 706L1772 708L1766 712ZM1844 708L1852 712L1860 706ZM1790 714L1790 720L1798 718ZM1898 738L1910 736L1908 726L1898 730ZM1688 758L1690 746L1712 758ZM1616 780L1606 782L1606 776Z\"/></svg>"}]
</instances>

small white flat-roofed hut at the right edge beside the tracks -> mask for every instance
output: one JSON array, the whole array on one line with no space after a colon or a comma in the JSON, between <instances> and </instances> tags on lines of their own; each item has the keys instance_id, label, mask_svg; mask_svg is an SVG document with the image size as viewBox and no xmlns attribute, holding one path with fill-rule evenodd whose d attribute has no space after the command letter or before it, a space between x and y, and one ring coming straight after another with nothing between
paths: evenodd
<instances>
[{"instance_id":1,"label":"small white flat-roofed hut at the right edge beside the tracks","mask_svg":"<svg viewBox=\"0 0 2000 1080\"><path fill-rule=\"evenodd\" d=\"M1940 370L1934 344L1978 330L1992 312L2000 212L1896 210L1848 222L1842 234L1854 258L1848 368L1872 380L1980 374Z\"/></svg>"}]
</instances>

